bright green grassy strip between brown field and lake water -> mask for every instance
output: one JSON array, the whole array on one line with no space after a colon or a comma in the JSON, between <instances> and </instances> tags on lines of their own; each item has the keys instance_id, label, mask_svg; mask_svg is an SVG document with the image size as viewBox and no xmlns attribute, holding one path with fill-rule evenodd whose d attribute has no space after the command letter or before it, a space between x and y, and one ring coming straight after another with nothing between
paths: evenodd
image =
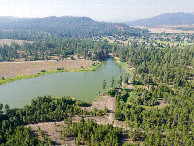
<instances>
[{"instance_id":1,"label":"bright green grassy strip between brown field and lake water","mask_svg":"<svg viewBox=\"0 0 194 146\"><path fill-rule=\"evenodd\" d=\"M96 68L101 65L102 63L101 62L98 62L98 63L93 63L92 66L90 68L87 68L87 69L84 69L84 68L81 68L81 69L55 69L55 70L43 70L42 72L39 72L37 74L33 74L33 75L27 75L27 76L24 76L24 75L18 75L16 77L13 77L13 78L8 78L8 79L0 79L0 85L4 85L4 84L7 84L7 83L10 83L10 82L14 82L14 81L17 81L17 80L21 80L21 79L29 79L29 78L35 78L35 77L38 77L38 76L42 76L42 75L45 75L45 74L52 74L52 73L58 73L58 72L88 72L88 71L95 71Z\"/></svg>"}]
</instances>

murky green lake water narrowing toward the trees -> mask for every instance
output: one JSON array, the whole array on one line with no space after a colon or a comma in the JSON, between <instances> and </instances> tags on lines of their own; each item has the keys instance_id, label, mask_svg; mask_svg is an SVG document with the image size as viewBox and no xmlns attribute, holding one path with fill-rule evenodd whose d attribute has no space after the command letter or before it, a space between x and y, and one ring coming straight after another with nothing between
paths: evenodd
<instances>
[{"instance_id":1,"label":"murky green lake water narrowing toward the trees","mask_svg":"<svg viewBox=\"0 0 194 146\"><path fill-rule=\"evenodd\" d=\"M86 102L92 102L99 91L110 88L114 76L124 78L125 71L115 61L108 59L91 72L61 72L47 74L31 79L18 80L0 86L0 103L11 108L23 107L38 96L70 96ZM106 89L102 90L102 80L106 80Z\"/></svg>"}]
</instances>

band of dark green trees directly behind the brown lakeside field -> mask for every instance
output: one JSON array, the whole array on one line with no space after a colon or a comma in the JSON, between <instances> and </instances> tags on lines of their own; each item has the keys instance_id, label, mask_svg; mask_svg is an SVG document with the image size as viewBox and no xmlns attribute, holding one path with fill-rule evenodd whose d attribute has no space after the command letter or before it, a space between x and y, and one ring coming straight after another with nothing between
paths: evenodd
<instances>
[{"instance_id":1,"label":"band of dark green trees directly behind the brown lakeside field","mask_svg":"<svg viewBox=\"0 0 194 146\"><path fill-rule=\"evenodd\" d=\"M106 60L113 47L116 47L116 44L75 38L45 39L22 45L12 42L10 46L5 44L0 46L0 61L13 61L19 58L30 61L49 60L53 56L63 60L76 54L78 58L83 56L85 59Z\"/></svg>"}]
</instances>

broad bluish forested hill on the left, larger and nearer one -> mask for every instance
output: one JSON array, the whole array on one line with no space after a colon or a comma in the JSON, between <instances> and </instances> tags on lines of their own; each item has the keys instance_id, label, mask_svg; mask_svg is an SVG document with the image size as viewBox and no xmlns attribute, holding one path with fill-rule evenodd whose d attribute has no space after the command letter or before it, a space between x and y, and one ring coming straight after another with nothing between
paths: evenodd
<instances>
[{"instance_id":1,"label":"broad bluish forested hill on the left, larger and nearer one","mask_svg":"<svg viewBox=\"0 0 194 146\"><path fill-rule=\"evenodd\" d=\"M52 16L45 18L0 17L0 31L12 31L12 33L31 31L62 37L93 37L140 36L145 30L130 28L126 24L97 22L88 17Z\"/></svg>"}]
</instances>

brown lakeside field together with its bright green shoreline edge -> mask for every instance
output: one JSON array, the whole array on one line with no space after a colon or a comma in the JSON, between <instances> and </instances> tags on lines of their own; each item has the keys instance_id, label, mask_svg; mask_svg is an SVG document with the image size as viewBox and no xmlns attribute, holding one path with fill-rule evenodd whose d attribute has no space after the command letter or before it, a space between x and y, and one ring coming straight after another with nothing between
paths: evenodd
<instances>
[{"instance_id":1,"label":"brown lakeside field together with its bright green shoreline edge","mask_svg":"<svg viewBox=\"0 0 194 146\"><path fill-rule=\"evenodd\" d=\"M101 64L91 60L1 62L0 85L57 72L94 71Z\"/></svg>"}]
</instances>

